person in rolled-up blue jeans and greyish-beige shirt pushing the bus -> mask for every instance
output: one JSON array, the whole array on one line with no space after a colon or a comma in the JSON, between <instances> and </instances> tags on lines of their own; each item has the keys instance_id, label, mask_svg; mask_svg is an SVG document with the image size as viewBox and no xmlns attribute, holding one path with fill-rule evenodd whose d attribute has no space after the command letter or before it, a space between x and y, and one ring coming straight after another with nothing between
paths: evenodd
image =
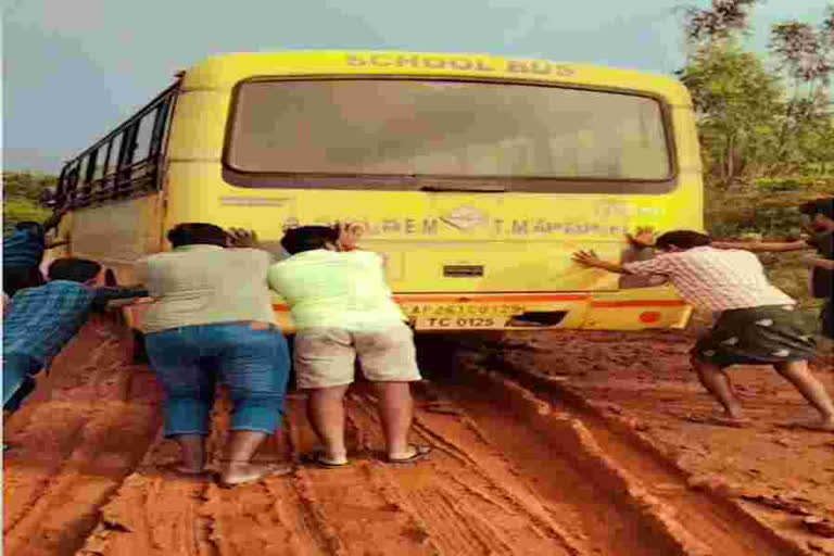
<instances>
[{"instance_id":1,"label":"person in rolled-up blue jeans and greyish-beige shirt pushing the bus","mask_svg":"<svg viewBox=\"0 0 834 556\"><path fill-rule=\"evenodd\" d=\"M211 224L180 224L168 232L170 252L137 265L137 278L154 299L144 319L146 348L165 390L165 437L182 453L179 472L205 471L216 374L229 388L225 486L290 470L251 463L266 437L280 429L290 370L266 282L269 254L249 249L253 240Z\"/></svg>"}]
</instances>

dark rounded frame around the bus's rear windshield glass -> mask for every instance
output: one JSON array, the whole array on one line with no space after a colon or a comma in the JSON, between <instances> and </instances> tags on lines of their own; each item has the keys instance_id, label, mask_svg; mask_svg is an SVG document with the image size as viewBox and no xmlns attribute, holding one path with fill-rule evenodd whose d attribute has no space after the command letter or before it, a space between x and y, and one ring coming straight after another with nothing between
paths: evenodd
<instances>
[{"instance_id":1,"label":"dark rounded frame around the bus's rear windshield glass","mask_svg":"<svg viewBox=\"0 0 834 556\"><path fill-rule=\"evenodd\" d=\"M629 94L650 99L660 108L664 138L666 140L669 174L659 179L596 178L596 177L508 177L508 176L448 176L448 175L391 175L391 174L332 174L300 172L248 172L236 168L229 163L231 136L238 111L240 89L250 83L263 81L339 81L339 80L400 80L400 81L466 81L483 84L522 85L530 87L552 87L558 89L586 90L614 94ZM222 175L229 185L248 189L333 189L356 191L419 191L422 187L439 187L465 190L467 186L494 187L506 192L519 193L604 193L604 194L662 194L670 193L678 187L679 162L678 146L672 127L672 108L661 94L617 87L593 87L573 84L545 81L541 79L506 79L466 76L438 75L260 75L241 79L231 90L226 129L220 157Z\"/></svg>"}]
</instances>

